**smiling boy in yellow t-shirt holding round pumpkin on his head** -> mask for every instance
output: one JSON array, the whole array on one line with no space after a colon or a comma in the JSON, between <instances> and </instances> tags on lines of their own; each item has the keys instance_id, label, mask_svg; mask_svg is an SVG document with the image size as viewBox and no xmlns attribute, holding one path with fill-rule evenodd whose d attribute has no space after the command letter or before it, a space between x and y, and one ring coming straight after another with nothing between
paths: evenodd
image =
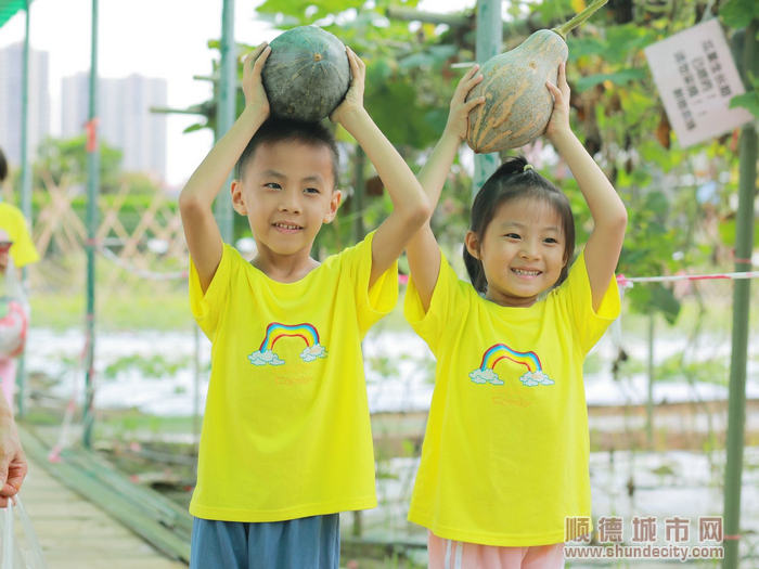
<instances>
[{"instance_id":1,"label":"smiling boy in yellow t-shirt holding round pumpkin on his head","mask_svg":"<svg viewBox=\"0 0 759 569\"><path fill-rule=\"evenodd\" d=\"M376 505L360 341L395 305L396 260L429 206L363 108L365 67L346 52L352 81L331 118L393 199L374 233L322 264L311 258L342 198L336 147L320 125L265 122L266 43L244 62L245 109L179 198L193 313L213 342L193 568L337 568L338 513ZM258 246L252 263L222 243L211 214L237 158L232 204Z\"/></svg>"}]
</instances>

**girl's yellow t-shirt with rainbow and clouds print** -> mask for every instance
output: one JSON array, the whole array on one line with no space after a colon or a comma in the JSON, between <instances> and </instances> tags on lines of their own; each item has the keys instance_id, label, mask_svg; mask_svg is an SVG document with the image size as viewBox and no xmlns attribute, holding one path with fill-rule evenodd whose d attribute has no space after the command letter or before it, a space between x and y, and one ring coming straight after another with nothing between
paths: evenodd
<instances>
[{"instance_id":1,"label":"girl's yellow t-shirt with rainbow and clouds print","mask_svg":"<svg viewBox=\"0 0 759 569\"><path fill-rule=\"evenodd\" d=\"M436 535L528 546L590 516L582 362L619 314L616 281L593 311L584 256L529 308L486 300L445 257L428 311L406 316L437 358L409 519Z\"/></svg>"}]
</instances>

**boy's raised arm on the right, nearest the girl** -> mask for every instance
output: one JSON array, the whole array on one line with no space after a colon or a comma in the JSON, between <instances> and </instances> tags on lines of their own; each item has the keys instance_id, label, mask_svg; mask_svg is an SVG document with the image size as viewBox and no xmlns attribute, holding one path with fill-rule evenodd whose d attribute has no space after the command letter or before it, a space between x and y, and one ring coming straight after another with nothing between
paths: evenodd
<instances>
[{"instance_id":1,"label":"boy's raised arm on the right, nearest the girl","mask_svg":"<svg viewBox=\"0 0 759 569\"><path fill-rule=\"evenodd\" d=\"M365 65L346 48L352 81L345 101L332 119L343 125L374 165L393 201L393 212L377 228L372 241L371 287L400 257L403 247L429 215L429 205L413 172L363 107Z\"/></svg>"}]
</instances>

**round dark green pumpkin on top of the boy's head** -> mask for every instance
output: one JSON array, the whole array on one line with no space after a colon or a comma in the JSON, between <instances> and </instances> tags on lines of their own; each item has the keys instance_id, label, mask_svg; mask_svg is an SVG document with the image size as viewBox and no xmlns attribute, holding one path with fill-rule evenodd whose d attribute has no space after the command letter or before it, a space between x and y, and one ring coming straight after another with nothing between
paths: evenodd
<instances>
[{"instance_id":1,"label":"round dark green pumpkin on top of the boy's head","mask_svg":"<svg viewBox=\"0 0 759 569\"><path fill-rule=\"evenodd\" d=\"M350 87L345 46L317 26L299 26L274 38L263 66L263 89L273 115L321 120Z\"/></svg>"}]
</instances>

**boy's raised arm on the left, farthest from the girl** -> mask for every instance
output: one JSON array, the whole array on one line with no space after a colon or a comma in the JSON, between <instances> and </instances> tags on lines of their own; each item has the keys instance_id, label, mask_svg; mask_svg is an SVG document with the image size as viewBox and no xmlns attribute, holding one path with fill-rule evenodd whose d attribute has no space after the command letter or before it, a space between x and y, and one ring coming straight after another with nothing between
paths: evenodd
<instances>
[{"instance_id":1,"label":"boy's raised arm on the left, farthest from the girl","mask_svg":"<svg viewBox=\"0 0 759 569\"><path fill-rule=\"evenodd\" d=\"M214 218L214 199L245 146L269 116L269 101L261 83L261 69L270 52L271 48L261 43L245 57L245 109L232 128L214 145L179 195L184 237L203 292L214 279L223 251L221 233Z\"/></svg>"}]
</instances>

